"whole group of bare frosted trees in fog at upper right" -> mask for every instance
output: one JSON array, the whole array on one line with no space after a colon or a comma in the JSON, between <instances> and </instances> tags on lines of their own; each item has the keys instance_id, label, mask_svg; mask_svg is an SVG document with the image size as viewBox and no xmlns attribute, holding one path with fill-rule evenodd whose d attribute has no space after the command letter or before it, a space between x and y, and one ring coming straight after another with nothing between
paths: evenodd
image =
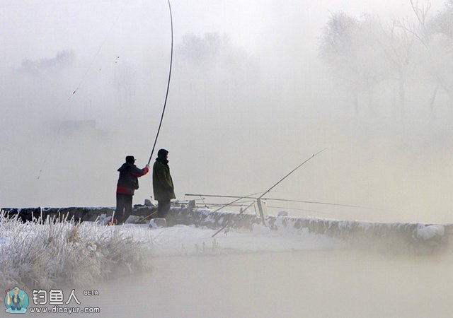
<instances>
[{"instance_id":1,"label":"whole group of bare frosted trees in fog at upper right","mask_svg":"<svg viewBox=\"0 0 453 318\"><path fill-rule=\"evenodd\" d=\"M336 85L352 97L356 115L364 97L374 114L374 96L384 82L393 88L398 117L406 115L406 92L415 82L430 87L425 100L433 117L440 91L453 112L453 0L432 15L429 4L409 1L410 18L383 23L379 16L335 12L324 25L319 54Z\"/></svg>"}]
</instances>

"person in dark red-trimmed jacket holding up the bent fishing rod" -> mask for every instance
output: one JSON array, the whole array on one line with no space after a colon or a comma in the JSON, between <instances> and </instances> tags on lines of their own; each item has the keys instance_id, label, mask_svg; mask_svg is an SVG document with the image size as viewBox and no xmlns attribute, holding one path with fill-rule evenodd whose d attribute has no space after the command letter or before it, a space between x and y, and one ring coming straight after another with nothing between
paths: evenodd
<instances>
[{"instance_id":1,"label":"person in dark red-trimmed jacket holding up the bent fishing rod","mask_svg":"<svg viewBox=\"0 0 453 318\"><path fill-rule=\"evenodd\" d=\"M120 178L116 187L116 210L117 224L125 223L132 213L132 196L139 188L139 177L149 172L149 165L143 169L138 168L133 155L127 155L126 162L118 169Z\"/></svg>"}]
</instances>

